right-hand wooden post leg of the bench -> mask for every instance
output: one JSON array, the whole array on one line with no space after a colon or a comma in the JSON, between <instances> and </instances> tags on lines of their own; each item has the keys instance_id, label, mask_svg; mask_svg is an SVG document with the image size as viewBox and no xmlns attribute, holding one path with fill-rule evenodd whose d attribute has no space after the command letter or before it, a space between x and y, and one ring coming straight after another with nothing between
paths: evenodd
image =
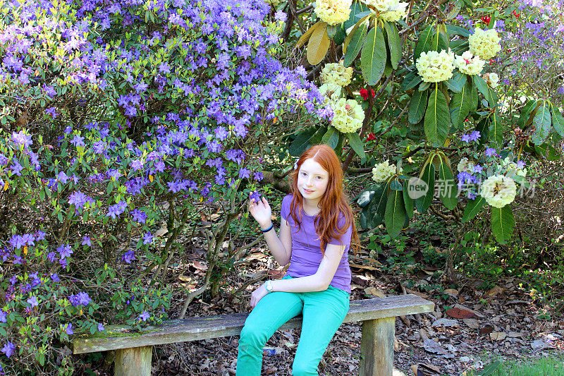
<instances>
[{"instance_id":1,"label":"right-hand wooden post leg of the bench","mask_svg":"<svg viewBox=\"0 0 564 376\"><path fill-rule=\"evenodd\" d=\"M362 322L360 376L392 376L396 317Z\"/></svg>"}]
</instances>

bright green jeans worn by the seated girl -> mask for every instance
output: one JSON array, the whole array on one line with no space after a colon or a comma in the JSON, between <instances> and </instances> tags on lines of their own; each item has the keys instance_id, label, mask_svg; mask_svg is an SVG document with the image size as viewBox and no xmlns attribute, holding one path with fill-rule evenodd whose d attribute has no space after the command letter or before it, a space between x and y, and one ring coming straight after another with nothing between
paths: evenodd
<instances>
[{"instance_id":1,"label":"bright green jeans worn by the seated girl","mask_svg":"<svg viewBox=\"0 0 564 376\"><path fill-rule=\"evenodd\" d=\"M292 277L284 277L284 279ZM269 293L245 321L239 339L237 376L259 376L262 348L291 318L303 315L302 334L292 365L293 376L317 375L317 365L348 313L350 294L329 286L309 293Z\"/></svg>"}]
</instances>

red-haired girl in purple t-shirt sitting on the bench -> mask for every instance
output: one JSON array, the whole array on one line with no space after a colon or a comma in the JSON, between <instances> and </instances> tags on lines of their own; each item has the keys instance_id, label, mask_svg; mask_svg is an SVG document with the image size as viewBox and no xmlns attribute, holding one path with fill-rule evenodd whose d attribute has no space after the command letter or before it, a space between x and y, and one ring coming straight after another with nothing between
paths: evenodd
<instances>
[{"instance_id":1,"label":"red-haired girl in purple t-shirt sitting on the bench","mask_svg":"<svg viewBox=\"0 0 564 376\"><path fill-rule=\"evenodd\" d=\"M317 365L348 313L351 237L358 240L353 210L343 194L343 171L333 149L306 150L292 175L292 194L282 200L280 236L263 197L249 211L274 259L290 262L286 276L266 281L251 295L253 308L239 340L238 376L258 376L266 341L292 317L303 315L292 375L317 375Z\"/></svg>"}]
</instances>

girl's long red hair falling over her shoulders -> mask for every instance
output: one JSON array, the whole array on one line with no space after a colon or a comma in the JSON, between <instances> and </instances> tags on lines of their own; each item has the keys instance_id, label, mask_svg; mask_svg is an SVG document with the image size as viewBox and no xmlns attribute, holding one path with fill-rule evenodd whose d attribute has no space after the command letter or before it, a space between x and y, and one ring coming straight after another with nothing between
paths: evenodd
<instances>
[{"instance_id":1,"label":"girl's long red hair falling over her shoulders","mask_svg":"<svg viewBox=\"0 0 564 376\"><path fill-rule=\"evenodd\" d=\"M302 164L309 158L321 165L325 171L329 173L329 183L327 189L321 200L319 206L321 211L314 219L315 232L319 236L321 242L321 255L325 254L325 246L329 244L331 238L337 240L343 236L350 226L353 226L352 239L355 242L355 253L357 250L358 234L355 226L355 217L353 210L348 204L348 197L343 192L343 169L341 168L341 161L335 154L331 147L321 144L309 147L296 162L296 168L290 174L292 179L292 202L290 203L290 215L294 222L298 224L298 229L301 226L301 215L298 217L297 212L300 213L303 209L303 200L300 191L298 190L298 172ZM343 215L345 223L342 228L338 227L338 219ZM298 230L299 231L299 230Z\"/></svg>"}]
</instances>

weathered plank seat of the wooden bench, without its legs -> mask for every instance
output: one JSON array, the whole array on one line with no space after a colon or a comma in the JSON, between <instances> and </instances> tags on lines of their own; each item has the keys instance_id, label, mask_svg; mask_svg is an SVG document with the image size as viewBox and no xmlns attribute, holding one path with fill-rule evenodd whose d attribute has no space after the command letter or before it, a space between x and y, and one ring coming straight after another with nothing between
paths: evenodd
<instances>
[{"instance_id":1,"label":"weathered plank seat of the wooden bench, without its legs","mask_svg":"<svg viewBox=\"0 0 564 376\"><path fill-rule=\"evenodd\" d=\"M357 322L413 315L434 311L434 303L416 295L388 296L362 301L350 301L350 309L344 322ZM94 336L80 336L73 340L75 354L117 350L184 341L197 341L223 336L239 335L245 325L248 313L191 317L184 320L170 320L157 327L147 327L135 332L130 327L107 326L106 331ZM288 321L280 329L299 328L302 317Z\"/></svg>"}]
</instances>

